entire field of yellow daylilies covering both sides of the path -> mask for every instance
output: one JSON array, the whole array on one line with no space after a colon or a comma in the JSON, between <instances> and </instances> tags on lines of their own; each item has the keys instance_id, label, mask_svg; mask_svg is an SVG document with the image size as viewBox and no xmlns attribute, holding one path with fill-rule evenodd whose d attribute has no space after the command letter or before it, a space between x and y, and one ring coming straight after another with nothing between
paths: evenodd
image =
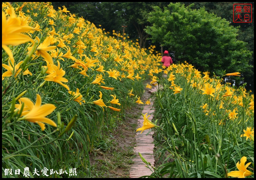
<instances>
[{"instance_id":1,"label":"entire field of yellow daylilies covering both sides of the path","mask_svg":"<svg viewBox=\"0 0 256 180\"><path fill-rule=\"evenodd\" d=\"M91 177L89 154L113 117L150 103L145 79L159 86L158 119L139 129L156 129L152 177L253 177L254 95L222 83L239 73L163 69L154 48L65 6L2 3L2 177Z\"/></svg>"}]
</instances>

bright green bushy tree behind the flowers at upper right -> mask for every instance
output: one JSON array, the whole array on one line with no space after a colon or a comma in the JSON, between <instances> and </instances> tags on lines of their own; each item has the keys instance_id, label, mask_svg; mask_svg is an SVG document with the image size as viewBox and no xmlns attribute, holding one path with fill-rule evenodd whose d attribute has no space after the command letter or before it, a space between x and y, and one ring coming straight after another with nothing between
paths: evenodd
<instances>
[{"instance_id":1,"label":"bright green bushy tree behind the flowers at upper right","mask_svg":"<svg viewBox=\"0 0 256 180\"><path fill-rule=\"evenodd\" d=\"M160 39L162 45L170 47L176 60L211 74L221 75L224 70L241 72L242 76L252 73L252 52L247 43L237 39L238 28L205 8L192 9L180 3L170 3L164 10L155 6L148 21L152 25L146 27L146 33L153 42ZM235 82L240 85L241 78Z\"/></svg>"}]
</instances>

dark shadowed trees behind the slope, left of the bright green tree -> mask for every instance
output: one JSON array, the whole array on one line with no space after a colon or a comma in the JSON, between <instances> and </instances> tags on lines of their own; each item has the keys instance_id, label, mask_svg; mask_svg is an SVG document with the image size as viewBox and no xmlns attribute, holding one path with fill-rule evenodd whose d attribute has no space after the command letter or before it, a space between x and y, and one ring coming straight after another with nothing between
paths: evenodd
<instances>
[{"instance_id":1,"label":"dark shadowed trees behind the slope, left of the bright green tree","mask_svg":"<svg viewBox=\"0 0 256 180\"><path fill-rule=\"evenodd\" d=\"M140 47L145 48L149 34L144 28L150 23L147 15L153 6L167 6L167 2L52 2L55 9L65 5L71 13L83 16L95 25L102 25L106 31L122 32L122 25L126 25L125 33L130 39L139 39Z\"/></svg>"}]
</instances>

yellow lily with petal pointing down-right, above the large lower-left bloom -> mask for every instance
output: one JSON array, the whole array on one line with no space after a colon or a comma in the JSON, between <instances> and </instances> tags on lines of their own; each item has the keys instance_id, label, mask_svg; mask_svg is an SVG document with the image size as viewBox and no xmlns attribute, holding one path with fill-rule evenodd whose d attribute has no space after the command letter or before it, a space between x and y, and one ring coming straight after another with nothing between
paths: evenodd
<instances>
[{"instance_id":1,"label":"yellow lily with petal pointing down-right, above the large lower-left bloom","mask_svg":"<svg viewBox=\"0 0 256 180\"><path fill-rule=\"evenodd\" d=\"M58 62L58 66L54 64L50 64L49 62L47 62L47 66L44 66L45 68L48 67L46 73L49 74L44 78L44 80L57 82L60 85L67 88L67 90L69 90L69 87L66 84L62 83L62 82L68 82L66 78L63 78L66 72L62 68L60 68L60 62L59 61L57 62Z\"/></svg>"}]
</instances>

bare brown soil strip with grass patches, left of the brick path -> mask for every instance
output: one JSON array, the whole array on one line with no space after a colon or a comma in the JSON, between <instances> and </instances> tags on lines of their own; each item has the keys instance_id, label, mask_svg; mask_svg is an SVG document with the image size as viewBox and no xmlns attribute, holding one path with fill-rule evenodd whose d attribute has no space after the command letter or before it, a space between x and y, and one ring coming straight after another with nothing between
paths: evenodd
<instances>
[{"instance_id":1,"label":"bare brown soil strip with grass patches, left of the brick path","mask_svg":"<svg viewBox=\"0 0 256 180\"><path fill-rule=\"evenodd\" d=\"M145 82L150 83L150 80ZM151 93L150 89L145 87L143 96L141 100L146 102ZM92 177L98 178L128 178L130 173L130 166L133 164L134 152L133 148L135 146L135 135L137 128L137 120L140 118L143 110L142 104L135 104L132 109L126 110L125 114L122 114L122 121L120 122L115 131L111 133L113 136L113 147L106 152L95 151L90 155L91 166L94 167L91 174ZM121 156L117 157L118 154ZM118 164L119 161L121 164ZM105 172L102 165L108 164L108 172ZM117 164L117 165L116 165ZM112 166L113 165L113 168ZM101 173L104 172L104 173ZM94 174L97 173L95 176Z\"/></svg>"}]
</instances>

